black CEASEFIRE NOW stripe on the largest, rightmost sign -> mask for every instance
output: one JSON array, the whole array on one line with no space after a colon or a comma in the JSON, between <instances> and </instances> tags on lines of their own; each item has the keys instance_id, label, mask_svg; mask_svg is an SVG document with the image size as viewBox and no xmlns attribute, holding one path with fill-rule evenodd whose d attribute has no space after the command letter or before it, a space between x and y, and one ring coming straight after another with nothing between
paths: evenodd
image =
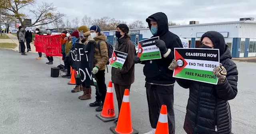
<instances>
[{"instance_id":1,"label":"black CEASEFIRE NOW stripe on the largest, rightmost sign","mask_svg":"<svg viewBox=\"0 0 256 134\"><path fill-rule=\"evenodd\" d=\"M179 49L175 48L178 53L184 59L197 59L204 61L219 61L219 51L218 49L204 49L204 48L196 48L196 49Z\"/></svg>"}]
</instances>

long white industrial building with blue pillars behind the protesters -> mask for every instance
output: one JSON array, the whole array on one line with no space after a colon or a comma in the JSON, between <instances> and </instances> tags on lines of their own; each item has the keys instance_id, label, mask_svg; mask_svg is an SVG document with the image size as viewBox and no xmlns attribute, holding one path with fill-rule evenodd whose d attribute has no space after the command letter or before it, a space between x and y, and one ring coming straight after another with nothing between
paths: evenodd
<instances>
[{"instance_id":1,"label":"long white industrial building with blue pillars behind the protesters","mask_svg":"<svg viewBox=\"0 0 256 134\"><path fill-rule=\"evenodd\" d=\"M226 43L230 46L232 57L255 57L256 56L256 21L246 19L236 22L220 22L198 24L190 22L189 25L169 26L169 31L179 37L189 40L189 47L199 47L200 37L208 31L220 32ZM111 44L116 43L115 31L103 32ZM130 30L131 40L138 41L152 37L149 28Z\"/></svg>"}]
</instances>

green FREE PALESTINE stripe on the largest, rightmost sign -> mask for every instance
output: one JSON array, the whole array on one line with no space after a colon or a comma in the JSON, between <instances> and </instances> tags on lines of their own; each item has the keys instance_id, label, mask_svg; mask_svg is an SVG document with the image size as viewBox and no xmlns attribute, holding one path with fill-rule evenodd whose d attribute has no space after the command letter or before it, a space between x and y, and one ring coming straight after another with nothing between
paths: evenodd
<instances>
[{"instance_id":1,"label":"green FREE PALESTINE stripe on the largest, rightmost sign","mask_svg":"<svg viewBox=\"0 0 256 134\"><path fill-rule=\"evenodd\" d=\"M212 73L212 71L204 71L197 69L184 68L182 69L182 71L180 71L180 73L178 73L174 77L191 79L211 84L216 84L218 82L218 78Z\"/></svg>"}]
</instances>

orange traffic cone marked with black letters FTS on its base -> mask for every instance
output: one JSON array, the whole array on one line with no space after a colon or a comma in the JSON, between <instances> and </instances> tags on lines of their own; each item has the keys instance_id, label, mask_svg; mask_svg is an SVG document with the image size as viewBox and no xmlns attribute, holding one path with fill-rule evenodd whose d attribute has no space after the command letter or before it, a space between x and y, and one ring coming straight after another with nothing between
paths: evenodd
<instances>
[{"instance_id":1,"label":"orange traffic cone marked with black letters FTS on its base","mask_svg":"<svg viewBox=\"0 0 256 134\"><path fill-rule=\"evenodd\" d=\"M100 114L96 116L103 122L109 122L116 119L115 106L114 106L114 95L112 81L108 82L108 90L104 101L103 109Z\"/></svg>"}]
</instances>

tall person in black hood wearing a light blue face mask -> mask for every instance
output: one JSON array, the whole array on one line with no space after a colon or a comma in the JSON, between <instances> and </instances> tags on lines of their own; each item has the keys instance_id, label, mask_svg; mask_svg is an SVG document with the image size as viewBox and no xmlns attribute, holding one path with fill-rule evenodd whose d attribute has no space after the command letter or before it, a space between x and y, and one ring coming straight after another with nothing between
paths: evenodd
<instances>
[{"instance_id":1,"label":"tall person in black hood wearing a light blue face mask","mask_svg":"<svg viewBox=\"0 0 256 134\"><path fill-rule=\"evenodd\" d=\"M146 19L152 37L159 36L156 46L160 49L162 59L140 61L134 56L134 63L145 64L143 72L146 76L146 94L148 100L148 111L152 130L146 134L154 134L163 104L167 106L169 134L175 133L174 120L174 83L173 71L168 69L174 59L174 47L183 47L180 38L169 31L167 16L158 12ZM151 73L149 73L151 72Z\"/></svg>"}]
</instances>

